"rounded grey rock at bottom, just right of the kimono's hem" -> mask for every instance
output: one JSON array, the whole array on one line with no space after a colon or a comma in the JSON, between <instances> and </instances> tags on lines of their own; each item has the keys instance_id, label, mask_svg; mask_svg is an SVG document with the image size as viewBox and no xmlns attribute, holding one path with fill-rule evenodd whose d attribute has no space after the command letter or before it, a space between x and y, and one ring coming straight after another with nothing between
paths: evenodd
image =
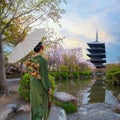
<instances>
[{"instance_id":1,"label":"rounded grey rock at bottom, just right of the kimono's hem","mask_svg":"<svg viewBox=\"0 0 120 120\"><path fill-rule=\"evenodd\" d=\"M50 110L50 115L48 120L66 120L66 113L64 109L53 106Z\"/></svg>"}]
</instances>

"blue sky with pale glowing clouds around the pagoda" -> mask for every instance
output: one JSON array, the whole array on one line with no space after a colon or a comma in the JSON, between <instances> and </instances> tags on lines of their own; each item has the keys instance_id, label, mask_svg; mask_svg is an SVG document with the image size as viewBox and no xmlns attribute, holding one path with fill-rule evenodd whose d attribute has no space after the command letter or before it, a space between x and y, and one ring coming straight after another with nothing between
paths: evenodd
<instances>
[{"instance_id":1,"label":"blue sky with pale glowing clouds around the pagoda","mask_svg":"<svg viewBox=\"0 0 120 120\"><path fill-rule=\"evenodd\" d=\"M66 0L62 4L62 28L55 27L64 36L64 47L81 47L87 59L87 44L94 42L96 29L99 41L106 45L108 63L120 60L120 0Z\"/></svg>"}]
</instances>

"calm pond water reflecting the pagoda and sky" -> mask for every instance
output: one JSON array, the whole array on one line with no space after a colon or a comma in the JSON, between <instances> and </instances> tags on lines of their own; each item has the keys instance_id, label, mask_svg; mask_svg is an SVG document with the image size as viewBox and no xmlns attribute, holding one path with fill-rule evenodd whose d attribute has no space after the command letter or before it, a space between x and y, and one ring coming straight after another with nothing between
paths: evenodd
<instances>
[{"instance_id":1,"label":"calm pond water reflecting the pagoda and sky","mask_svg":"<svg viewBox=\"0 0 120 120\"><path fill-rule=\"evenodd\" d=\"M120 86L107 86L104 81L95 81L92 87L86 87L90 80L71 80L58 82L58 91L65 91L77 98L79 104L105 102L116 105Z\"/></svg>"}]
</instances>

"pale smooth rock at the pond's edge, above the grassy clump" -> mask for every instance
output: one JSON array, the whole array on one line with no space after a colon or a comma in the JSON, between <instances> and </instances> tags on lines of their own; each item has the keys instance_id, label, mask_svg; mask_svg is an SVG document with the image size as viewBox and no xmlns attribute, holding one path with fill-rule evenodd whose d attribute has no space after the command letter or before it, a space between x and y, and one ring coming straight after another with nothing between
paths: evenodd
<instances>
[{"instance_id":1,"label":"pale smooth rock at the pond's edge, above the grassy clump","mask_svg":"<svg viewBox=\"0 0 120 120\"><path fill-rule=\"evenodd\" d=\"M75 104L77 103L76 98L66 92L55 92L54 96L56 99L62 102L73 102Z\"/></svg>"}]
</instances>

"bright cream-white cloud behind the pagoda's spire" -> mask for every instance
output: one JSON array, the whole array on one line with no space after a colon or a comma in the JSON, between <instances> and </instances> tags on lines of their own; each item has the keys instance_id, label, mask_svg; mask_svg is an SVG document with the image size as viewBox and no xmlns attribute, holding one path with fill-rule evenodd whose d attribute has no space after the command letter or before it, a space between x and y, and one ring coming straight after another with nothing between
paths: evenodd
<instances>
[{"instance_id":1,"label":"bright cream-white cloud behind the pagoda's spire","mask_svg":"<svg viewBox=\"0 0 120 120\"><path fill-rule=\"evenodd\" d=\"M73 34L84 36L85 41L95 41L95 32L98 29L99 39L101 42L114 42L113 37L107 33L106 28L102 26L99 21L99 16L90 16L88 19L82 18L77 15L69 15L62 21L63 29Z\"/></svg>"}]
</instances>

